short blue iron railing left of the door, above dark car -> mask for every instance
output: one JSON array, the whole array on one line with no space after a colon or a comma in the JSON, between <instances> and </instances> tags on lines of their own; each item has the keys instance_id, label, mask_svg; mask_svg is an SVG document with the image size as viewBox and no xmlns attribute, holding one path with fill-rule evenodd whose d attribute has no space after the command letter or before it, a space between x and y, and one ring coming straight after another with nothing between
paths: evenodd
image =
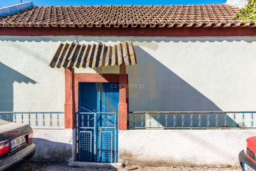
<instances>
[{"instance_id":1,"label":"short blue iron railing left of the door, above dark car","mask_svg":"<svg viewBox=\"0 0 256 171\"><path fill-rule=\"evenodd\" d=\"M61 111L0 111L0 119L29 124L33 128L64 128L64 114Z\"/></svg>"}]
</instances>

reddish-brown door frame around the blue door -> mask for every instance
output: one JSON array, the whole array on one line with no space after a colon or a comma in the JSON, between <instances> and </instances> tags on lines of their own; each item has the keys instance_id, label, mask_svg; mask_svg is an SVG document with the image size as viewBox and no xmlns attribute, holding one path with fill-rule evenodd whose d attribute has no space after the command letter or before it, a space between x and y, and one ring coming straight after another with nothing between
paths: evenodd
<instances>
[{"instance_id":1,"label":"reddish-brown door frame around the blue door","mask_svg":"<svg viewBox=\"0 0 256 171\"><path fill-rule=\"evenodd\" d=\"M73 158L78 151L75 134L75 109L78 108L78 87L79 82L118 82L119 103L118 103L118 130L127 130L128 121L128 75L126 66L120 65L120 73L75 73L74 68L65 69L65 129L73 129Z\"/></svg>"}]
</instances>

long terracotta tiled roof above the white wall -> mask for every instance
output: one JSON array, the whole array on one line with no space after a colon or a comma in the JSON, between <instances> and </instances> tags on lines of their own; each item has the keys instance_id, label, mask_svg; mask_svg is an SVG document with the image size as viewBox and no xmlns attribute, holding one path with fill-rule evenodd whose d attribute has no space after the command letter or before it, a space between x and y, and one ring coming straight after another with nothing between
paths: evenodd
<instances>
[{"instance_id":1,"label":"long terracotta tiled roof above the white wall","mask_svg":"<svg viewBox=\"0 0 256 171\"><path fill-rule=\"evenodd\" d=\"M169 6L40 6L0 17L0 27L256 27L227 4Z\"/></svg>"}]
</instances>

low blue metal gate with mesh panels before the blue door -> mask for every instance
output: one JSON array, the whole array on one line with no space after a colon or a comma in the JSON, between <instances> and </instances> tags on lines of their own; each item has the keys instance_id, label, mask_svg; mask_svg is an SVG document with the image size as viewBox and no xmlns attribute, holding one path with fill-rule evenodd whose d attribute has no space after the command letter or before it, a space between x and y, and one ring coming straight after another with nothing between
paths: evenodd
<instances>
[{"instance_id":1,"label":"low blue metal gate with mesh panels before the blue door","mask_svg":"<svg viewBox=\"0 0 256 171\"><path fill-rule=\"evenodd\" d=\"M78 146L75 146L78 147L76 159L80 162L117 162L117 113L78 111L75 116L75 139L78 137ZM93 151L88 151L89 141L86 141L86 138L89 137L81 137L81 132L91 132L90 143ZM92 158L87 157L89 153L92 154Z\"/></svg>"}]
</instances>

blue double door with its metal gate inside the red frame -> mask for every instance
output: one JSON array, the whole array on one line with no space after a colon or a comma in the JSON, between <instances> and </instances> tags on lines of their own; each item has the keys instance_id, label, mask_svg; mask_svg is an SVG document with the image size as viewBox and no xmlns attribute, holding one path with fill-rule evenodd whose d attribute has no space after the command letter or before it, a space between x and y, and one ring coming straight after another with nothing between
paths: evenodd
<instances>
[{"instance_id":1,"label":"blue double door with its metal gate inside the red frame","mask_svg":"<svg viewBox=\"0 0 256 171\"><path fill-rule=\"evenodd\" d=\"M79 83L76 155L79 162L117 162L118 83Z\"/></svg>"}]
</instances>

